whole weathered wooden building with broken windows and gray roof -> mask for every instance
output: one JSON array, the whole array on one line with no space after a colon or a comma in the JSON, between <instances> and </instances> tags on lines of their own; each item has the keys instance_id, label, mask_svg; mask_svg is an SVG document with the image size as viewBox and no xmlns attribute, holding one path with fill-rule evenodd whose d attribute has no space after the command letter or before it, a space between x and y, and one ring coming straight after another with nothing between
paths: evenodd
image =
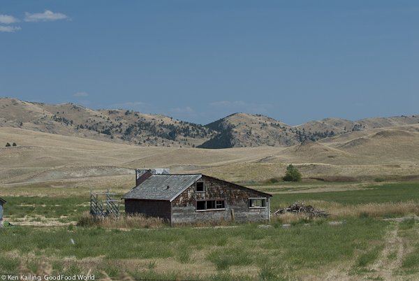
<instances>
[{"instance_id":1,"label":"whole weathered wooden building with broken windows and gray roof","mask_svg":"<svg viewBox=\"0 0 419 281\"><path fill-rule=\"evenodd\" d=\"M270 220L270 196L208 175L136 169L136 187L122 196L125 212L162 217L170 225Z\"/></svg>"}]
</instances>

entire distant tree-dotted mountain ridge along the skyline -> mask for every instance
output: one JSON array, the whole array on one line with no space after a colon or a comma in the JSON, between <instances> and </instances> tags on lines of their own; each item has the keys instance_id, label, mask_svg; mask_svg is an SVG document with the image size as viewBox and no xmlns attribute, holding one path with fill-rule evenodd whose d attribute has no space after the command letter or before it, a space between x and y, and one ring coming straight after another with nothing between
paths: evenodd
<instances>
[{"instance_id":1,"label":"entire distant tree-dotted mountain ridge along the skyline","mask_svg":"<svg viewBox=\"0 0 419 281\"><path fill-rule=\"evenodd\" d=\"M290 126L263 115L235 113L205 126L133 110L91 110L72 103L45 104L0 99L0 127L15 127L141 146L200 148L289 147L349 131L418 124L419 115L358 121L326 118Z\"/></svg>"}]
</instances>

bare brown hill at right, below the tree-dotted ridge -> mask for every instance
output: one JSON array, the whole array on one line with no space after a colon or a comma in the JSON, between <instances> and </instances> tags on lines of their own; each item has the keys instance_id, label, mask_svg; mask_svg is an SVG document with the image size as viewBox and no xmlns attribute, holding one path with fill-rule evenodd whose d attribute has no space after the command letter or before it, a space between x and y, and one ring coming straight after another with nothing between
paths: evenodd
<instances>
[{"instance_id":1,"label":"bare brown hill at right, below the tree-dotted ridge","mask_svg":"<svg viewBox=\"0 0 419 281\"><path fill-rule=\"evenodd\" d=\"M399 127L396 127L399 128ZM419 159L418 124L403 127L411 131L375 129L372 134L351 132L322 142L304 141L299 145L260 159L260 163L385 165L417 164ZM379 131L376 131L379 130ZM359 134L361 137L355 138Z\"/></svg>"}]
</instances>

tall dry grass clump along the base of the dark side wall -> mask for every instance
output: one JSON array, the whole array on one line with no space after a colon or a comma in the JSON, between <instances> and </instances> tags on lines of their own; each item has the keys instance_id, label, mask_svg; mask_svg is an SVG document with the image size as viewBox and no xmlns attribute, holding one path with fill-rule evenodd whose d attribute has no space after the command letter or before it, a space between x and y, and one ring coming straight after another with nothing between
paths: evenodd
<instances>
[{"instance_id":1,"label":"tall dry grass clump along the base of the dark side wall","mask_svg":"<svg viewBox=\"0 0 419 281\"><path fill-rule=\"evenodd\" d=\"M142 214L119 215L119 219L114 216L99 218L94 217L89 212L83 212L78 219L78 226L100 226L104 229L134 229L147 228L153 229L156 227L166 226L168 224L166 219L160 217L147 217Z\"/></svg>"}]
</instances>

